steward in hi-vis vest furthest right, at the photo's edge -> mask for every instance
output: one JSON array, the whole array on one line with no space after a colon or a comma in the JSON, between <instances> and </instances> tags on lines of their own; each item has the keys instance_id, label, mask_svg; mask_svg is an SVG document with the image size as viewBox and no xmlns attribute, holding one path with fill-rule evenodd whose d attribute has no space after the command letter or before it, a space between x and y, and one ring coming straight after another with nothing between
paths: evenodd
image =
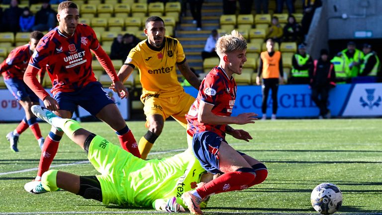
<instances>
[{"instance_id":1,"label":"steward in hi-vis vest furthest right, at the photo's edge","mask_svg":"<svg viewBox=\"0 0 382 215\"><path fill-rule=\"evenodd\" d=\"M365 57L361 64L360 76L377 76L378 70L380 69L380 59L377 53L372 51L372 45L364 44L364 54Z\"/></svg>"}]
</instances>

